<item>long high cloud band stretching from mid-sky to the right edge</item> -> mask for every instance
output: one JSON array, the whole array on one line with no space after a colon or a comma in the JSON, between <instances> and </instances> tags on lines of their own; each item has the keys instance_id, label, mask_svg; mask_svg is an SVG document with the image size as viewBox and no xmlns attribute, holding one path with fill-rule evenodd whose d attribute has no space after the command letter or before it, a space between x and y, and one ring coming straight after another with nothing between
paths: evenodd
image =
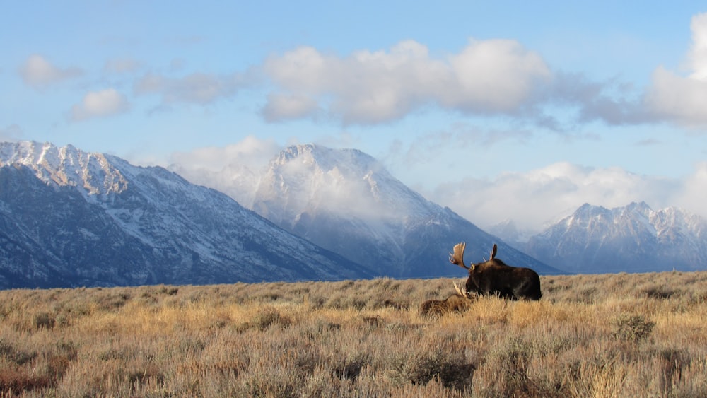
<instances>
[{"instance_id":1,"label":"long high cloud band stretching from mid-sky to the right edge","mask_svg":"<svg viewBox=\"0 0 707 398\"><path fill-rule=\"evenodd\" d=\"M555 71L515 40L471 39L459 52L443 55L414 40L345 57L298 47L262 65L276 86L262 115L269 122L310 118L380 124L436 107L463 115L510 116L554 130L592 121L704 127L707 13L694 16L690 28L688 74L658 66L645 88Z\"/></svg>"}]
</instances>

